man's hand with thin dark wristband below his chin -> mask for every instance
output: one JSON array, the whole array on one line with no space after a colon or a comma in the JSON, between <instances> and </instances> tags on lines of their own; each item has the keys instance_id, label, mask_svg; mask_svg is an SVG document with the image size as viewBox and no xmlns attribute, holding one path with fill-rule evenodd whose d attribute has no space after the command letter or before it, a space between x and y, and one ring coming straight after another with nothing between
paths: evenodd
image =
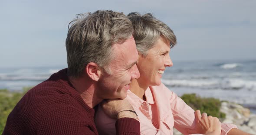
<instances>
[{"instance_id":1,"label":"man's hand with thin dark wristband below his chin","mask_svg":"<svg viewBox=\"0 0 256 135\"><path fill-rule=\"evenodd\" d=\"M138 120L138 117L135 113L130 111L124 110L132 110L131 104L127 100L121 99L112 99L112 100L104 100L101 103L102 109L104 112L113 119L120 119L120 118L134 118ZM121 112L122 111L122 112Z\"/></svg>"}]
</instances>

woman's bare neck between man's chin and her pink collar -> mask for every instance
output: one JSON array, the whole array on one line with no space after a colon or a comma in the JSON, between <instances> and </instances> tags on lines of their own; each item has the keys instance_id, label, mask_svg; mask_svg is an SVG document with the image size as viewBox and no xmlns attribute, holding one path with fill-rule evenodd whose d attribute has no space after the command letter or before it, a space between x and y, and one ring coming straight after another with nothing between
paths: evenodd
<instances>
[{"instance_id":1,"label":"woman's bare neck between man's chin and her pink collar","mask_svg":"<svg viewBox=\"0 0 256 135\"><path fill-rule=\"evenodd\" d=\"M143 83L140 83L139 79L133 79L131 80L131 84L130 84L130 90L132 93L134 93L135 95L137 95L139 98L143 99L143 96L145 94L145 91L148 89L148 85L145 85Z\"/></svg>"}]
</instances>

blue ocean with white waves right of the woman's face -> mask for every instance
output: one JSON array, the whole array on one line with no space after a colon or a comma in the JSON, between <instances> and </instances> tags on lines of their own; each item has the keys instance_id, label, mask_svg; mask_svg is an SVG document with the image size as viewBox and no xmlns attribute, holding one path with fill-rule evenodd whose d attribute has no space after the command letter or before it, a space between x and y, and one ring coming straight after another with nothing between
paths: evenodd
<instances>
[{"instance_id":1,"label":"blue ocean with white waves right of the woman's face","mask_svg":"<svg viewBox=\"0 0 256 135\"><path fill-rule=\"evenodd\" d=\"M162 83L178 96L214 97L249 107L256 114L256 60L174 62Z\"/></svg>"}]
</instances>

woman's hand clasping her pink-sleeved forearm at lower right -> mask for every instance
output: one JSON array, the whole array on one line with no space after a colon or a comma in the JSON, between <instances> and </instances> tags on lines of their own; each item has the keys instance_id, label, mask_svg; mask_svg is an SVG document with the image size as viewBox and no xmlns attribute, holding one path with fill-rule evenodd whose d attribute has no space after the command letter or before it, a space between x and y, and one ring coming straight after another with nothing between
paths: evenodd
<instances>
[{"instance_id":1,"label":"woman's hand clasping her pink-sleeved forearm at lower right","mask_svg":"<svg viewBox=\"0 0 256 135\"><path fill-rule=\"evenodd\" d=\"M207 113L201 115L200 110L195 111L196 129L187 129L189 134L220 135L221 125L217 117L207 116Z\"/></svg>"}]
</instances>

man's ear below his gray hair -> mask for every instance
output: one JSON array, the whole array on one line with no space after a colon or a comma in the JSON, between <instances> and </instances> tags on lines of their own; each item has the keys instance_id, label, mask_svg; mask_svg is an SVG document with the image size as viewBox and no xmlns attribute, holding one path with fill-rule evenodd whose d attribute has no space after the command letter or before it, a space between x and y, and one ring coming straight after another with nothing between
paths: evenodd
<instances>
[{"instance_id":1,"label":"man's ear below his gray hair","mask_svg":"<svg viewBox=\"0 0 256 135\"><path fill-rule=\"evenodd\" d=\"M88 76L90 78L92 78L92 80L95 80L95 81L98 81L99 77L102 74L102 71L98 67L98 64L96 64L94 62L88 63L85 67L85 71L88 74Z\"/></svg>"}]
</instances>

